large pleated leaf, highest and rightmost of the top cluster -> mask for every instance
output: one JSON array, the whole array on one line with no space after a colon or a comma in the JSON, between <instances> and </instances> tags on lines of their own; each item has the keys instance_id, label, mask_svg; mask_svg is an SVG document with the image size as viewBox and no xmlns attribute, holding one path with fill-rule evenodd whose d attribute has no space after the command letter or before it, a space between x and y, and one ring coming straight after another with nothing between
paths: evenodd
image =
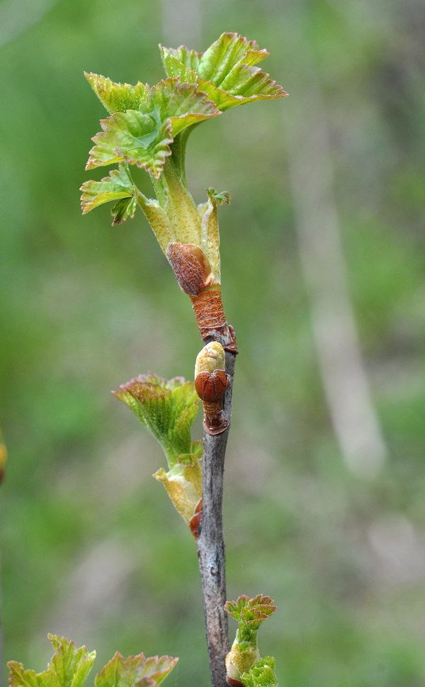
<instances>
[{"instance_id":1,"label":"large pleated leaf, highest and rightmost of the top cluster","mask_svg":"<svg viewBox=\"0 0 425 687\"><path fill-rule=\"evenodd\" d=\"M205 52L163 45L159 50L166 74L198 84L220 111L288 95L268 74L254 67L268 51L237 33L222 33Z\"/></svg>"}]
</instances>

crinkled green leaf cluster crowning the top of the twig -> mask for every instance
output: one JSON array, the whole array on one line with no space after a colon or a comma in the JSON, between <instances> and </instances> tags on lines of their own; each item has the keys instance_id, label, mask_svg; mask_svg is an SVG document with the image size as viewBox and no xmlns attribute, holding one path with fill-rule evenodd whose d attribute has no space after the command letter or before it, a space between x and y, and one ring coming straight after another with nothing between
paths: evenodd
<instances>
[{"instance_id":1,"label":"crinkled green leaf cluster crowning the top of the twig","mask_svg":"<svg viewBox=\"0 0 425 687\"><path fill-rule=\"evenodd\" d=\"M223 33L205 52L163 45L159 50L166 78L154 86L116 83L85 73L108 111L108 117L101 120L101 131L92 139L86 169L117 163L118 169L101 181L86 181L81 186L81 208L87 213L114 201L113 224L132 218L137 203L149 223L152 212L157 223L161 220L157 206L152 205L155 201L133 183L130 165L145 169L159 205L164 206L166 194L159 180L169 160L186 186L184 157L193 128L234 106L286 95L282 86L255 66L268 51L237 33ZM228 202L225 194L215 198L217 203Z\"/></svg>"}]
</instances>

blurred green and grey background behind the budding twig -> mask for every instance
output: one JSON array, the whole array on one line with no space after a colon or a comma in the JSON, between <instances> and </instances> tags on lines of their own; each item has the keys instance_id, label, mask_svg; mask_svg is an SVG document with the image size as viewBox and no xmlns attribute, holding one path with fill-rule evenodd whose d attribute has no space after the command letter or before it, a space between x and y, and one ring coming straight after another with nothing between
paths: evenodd
<instances>
[{"instance_id":1,"label":"blurred green and grey background behind the budding twig","mask_svg":"<svg viewBox=\"0 0 425 687\"><path fill-rule=\"evenodd\" d=\"M154 83L159 41L225 30L271 50L290 92L188 151L196 199L233 196L228 596L276 599L261 649L282 687L423 687L421 0L0 2L5 657L41 670L51 631L96 647L97 669L169 653L170 687L209 683L193 540L151 477L158 445L109 393L191 378L200 340L142 213L83 218L78 189L104 116L83 70Z\"/></svg>"}]
</instances>

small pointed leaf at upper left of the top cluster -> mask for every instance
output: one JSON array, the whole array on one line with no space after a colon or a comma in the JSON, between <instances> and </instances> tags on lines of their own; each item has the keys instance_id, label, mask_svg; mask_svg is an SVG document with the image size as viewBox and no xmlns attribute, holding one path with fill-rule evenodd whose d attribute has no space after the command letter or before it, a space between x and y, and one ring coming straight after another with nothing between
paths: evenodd
<instances>
[{"instance_id":1,"label":"small pointed leaf at upper left of the top cluster","mask_svg":"<svg viewBox=\"0 0 425 687\"><path fill-rule=\"evenodd\" d=\"M108 77L92 72L89 74L84 72L84 76L110 114L139 109L149 93L149 85L141 82L131 86L130 84L115 84Z\"/></svg>"}]
</instances>

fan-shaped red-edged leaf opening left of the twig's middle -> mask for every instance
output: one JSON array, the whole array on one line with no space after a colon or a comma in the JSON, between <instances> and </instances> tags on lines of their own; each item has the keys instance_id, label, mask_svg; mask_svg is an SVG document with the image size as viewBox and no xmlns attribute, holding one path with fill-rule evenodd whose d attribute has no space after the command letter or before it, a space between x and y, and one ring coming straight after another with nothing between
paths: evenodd
<instances>
[{"instance_id":1,"label":"fan-shaped red-edged leaf opening left of the twig's middle","mask_svg":"<svg viewBox=\"0 0 425 687\"><path fill-rule=\"evenodd\" d=\"M199 403L192 381L141 374L113 394L132 409L159 441L170 468L182 454L191 454L191 427Z\"/></svg>"}]
</instances>

